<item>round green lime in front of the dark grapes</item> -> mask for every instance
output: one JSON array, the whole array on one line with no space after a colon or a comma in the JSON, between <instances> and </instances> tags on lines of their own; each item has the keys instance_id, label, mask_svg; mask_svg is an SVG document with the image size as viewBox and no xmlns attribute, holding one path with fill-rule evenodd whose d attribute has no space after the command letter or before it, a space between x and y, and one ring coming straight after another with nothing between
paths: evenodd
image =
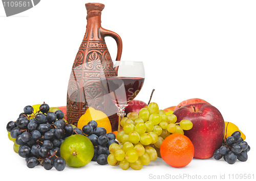
<instances>
[{"instance_id":1,"label":"round green lime in front of the dark grapes","mask_svg":"<svg viewBox=\"0 0 256 181\"><path fill-rule=\"evenodd\" d=\"M83 167L93 158L92 142L83 135L72 135L66 138L60 146L60 157L65 159L69 167Z\"/></svg>"}]
</instances>

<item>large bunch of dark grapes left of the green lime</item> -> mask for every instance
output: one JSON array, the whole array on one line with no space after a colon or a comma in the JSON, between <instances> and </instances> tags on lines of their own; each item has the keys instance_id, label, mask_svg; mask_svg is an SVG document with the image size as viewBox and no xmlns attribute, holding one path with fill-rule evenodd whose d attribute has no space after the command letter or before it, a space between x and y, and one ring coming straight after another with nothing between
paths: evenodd
<instances>
[{"instance_id":1,"label":"large bunch of dark grapes left of the green lime","mask_svg":"<svg viewBox=\"0 0 256 181\"><path fill-rule=\"evenodd\" d=\"M60 145L76 132L63 120L65 115L62 111L49 110L45 103L40 105L38 112L34 112L32 106L26 106L24 113L16 121L8 122L6 128L15 143L20 145L18 154L26 158L29 168L42 165L50 170L54 166L61 171L65 169L66 161L60 157Z\"/></svg>"}]
</instances>

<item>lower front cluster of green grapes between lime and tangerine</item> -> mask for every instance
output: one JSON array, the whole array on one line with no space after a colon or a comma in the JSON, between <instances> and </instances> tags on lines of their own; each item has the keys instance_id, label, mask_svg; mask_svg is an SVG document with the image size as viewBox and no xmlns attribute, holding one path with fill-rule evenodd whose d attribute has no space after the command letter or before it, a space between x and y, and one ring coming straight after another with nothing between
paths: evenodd
<instances>
[{"instance_id":1,"label":"lower front cluster of green grapes between lime and tangerine","mask_svg":"<svg viewBox=\"0 0 256 181\"><path fill-rule=\"evenodd\" d=\"M148 165L157 159L157 151L151 146L143 146L140 142L136 144L130 141L120 144L112 143L109 151L108 163L111 166L119 165L123 170L130 167L140 170L143 165Z\"/></svg>"}]
</instances>

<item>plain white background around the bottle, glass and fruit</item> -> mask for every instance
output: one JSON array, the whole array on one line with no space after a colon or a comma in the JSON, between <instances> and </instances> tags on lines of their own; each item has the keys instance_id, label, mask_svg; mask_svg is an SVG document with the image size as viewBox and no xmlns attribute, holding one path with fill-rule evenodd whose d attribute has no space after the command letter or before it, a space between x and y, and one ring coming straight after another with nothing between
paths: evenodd
<instances>
[{"instance_id":1,"label":"plain white background around the bottle, glass and fruit","mask_svg":"<svg viewBox=\"0 0 256 181\"><path fill-rule=\"evenodd\" d=\"M139 171L95 162L61 172L26 166L13 151L6 124L27 105L44 101L51 107L66 105L71 67L86 31L85 3L89 2L44 0L10 17L0 5L2 176L148 180L150 174L171 174L185 180L179 174L218 179L223 174L225 179L228 174L254 174L255 179L255 1L100 2L105 5L102 27L122 38L121 60L144 63L145 83L136 99L147 102L154 88L152 101L160 109L195 97L210 102L246 135L251 146L247 162L229 165L223 160L194 159L178 169L157 159ZM109 37L105 40L115 60L116 43Z\"/></svg>"}]
</instances>

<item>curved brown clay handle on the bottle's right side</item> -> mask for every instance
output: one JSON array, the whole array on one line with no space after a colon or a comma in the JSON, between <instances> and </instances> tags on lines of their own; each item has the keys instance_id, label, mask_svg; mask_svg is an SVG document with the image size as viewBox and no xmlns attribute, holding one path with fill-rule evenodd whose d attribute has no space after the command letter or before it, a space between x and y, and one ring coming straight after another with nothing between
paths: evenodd
<instances>
[{"instance_id":1,"label":"curved brown clay handle on the bottle's right side","mask_svg":"<svg viewBox=\"0 0 256 181\"><path fill-rule=\"evenodd\" d=\"M102 37L110 36L116 40L116 44L117 44L116 61L120 61L121 55L122 55L122 48L123 48L121 37L117 33L112 32L110 30L103 29L102 27L100 27L100 33Z\"/></svg>"}]
</instances>

